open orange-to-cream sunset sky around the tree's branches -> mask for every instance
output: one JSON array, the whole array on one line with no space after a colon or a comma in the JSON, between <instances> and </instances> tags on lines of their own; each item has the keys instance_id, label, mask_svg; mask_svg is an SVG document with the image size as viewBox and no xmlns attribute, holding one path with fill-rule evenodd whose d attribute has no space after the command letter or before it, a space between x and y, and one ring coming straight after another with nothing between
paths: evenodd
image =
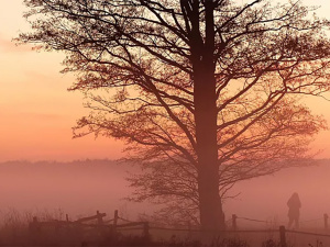
<instances>
[{"instance_id":1,"label":"open orange-to-cream sunset sky around the tree's branches","mask_svg":"<svg viewBox=\"0 0 330 247\"><path fill-rule=\"evenodd\" d=\"M118 158L122 145L92 136L72 139L75 121L87 113L82 96L66 89L73 75L59 74L63 55L16 47L11 40L29 25L22 18L23 0L0 0L0 161ZM328 0L306 1L330 11ZM311 109L330 123L330 102L311 100ZM321 133L315 149L330 158L330 132Z\"/></svg>"}]
</instances>

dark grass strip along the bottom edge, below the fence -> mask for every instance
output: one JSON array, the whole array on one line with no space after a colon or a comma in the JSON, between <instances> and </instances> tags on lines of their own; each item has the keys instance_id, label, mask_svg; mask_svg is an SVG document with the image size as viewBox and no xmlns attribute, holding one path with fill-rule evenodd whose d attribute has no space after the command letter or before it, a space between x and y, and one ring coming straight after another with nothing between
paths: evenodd
<instances>
[{"instance_id":1,"label":"dark grass strip along the bottom edge, below the fence","mask_svg":"<svg viewBox=\"0 0 330 247\"><path fill-rule=\"evenodd\" d=\"M0 246L162 246L162 247L280 247L278 233L227 233L213 239L209 245L202 245L195 233L164 231L151 228L150 236L143 236L143 231L114 232L111 226L103 228L81 227L75 224L55 227L50 224L40 229L30 227L33 217L41 222L64 221L65 214L59 210L31 211L20 213L14 209L0 212ZM287 234L287 247L326 247L330 238Z\"/></svg>"}]
</instances>

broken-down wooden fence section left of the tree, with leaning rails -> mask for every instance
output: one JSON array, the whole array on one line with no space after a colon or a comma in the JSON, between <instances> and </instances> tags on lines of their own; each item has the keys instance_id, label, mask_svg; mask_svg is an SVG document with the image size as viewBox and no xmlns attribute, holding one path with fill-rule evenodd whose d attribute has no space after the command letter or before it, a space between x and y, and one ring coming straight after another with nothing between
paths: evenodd
<instances>
[{"instance_id":1,"label":"broken-down wooden fence section left of the tree, with leaning rails","mask_svg":"<svg viewBox=\"0 0 330 247\"><path fill-rule=\"evenodd\" d=\"M56 240L56 238L68 239L67 242L117 242L122 232L140 229L140 239L148 239L150 225L148 222L131 222L119 216L118 211L114 211L113 218L106 220L107 214L97 211L95 215L81 217L77 221L69 221L66 215L65 221L38 221L33 217L29 224L30 238L32 243L41 244L45 242ZM63 237L61 234L66 235ZM47 238L46 238L46 237ZM50 240L50 238L52 238ZM57 242L59 242L57 239Z\"/></svg>"}]
</instances>

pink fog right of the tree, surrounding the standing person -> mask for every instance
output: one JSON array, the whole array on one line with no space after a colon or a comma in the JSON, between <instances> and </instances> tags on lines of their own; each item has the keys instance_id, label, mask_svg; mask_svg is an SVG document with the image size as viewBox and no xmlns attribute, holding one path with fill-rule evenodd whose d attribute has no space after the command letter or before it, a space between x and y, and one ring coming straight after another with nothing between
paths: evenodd
<instances>
[{"instance_id":1,"label":"pink fog right of the tree, surrounding the standing person","mask_svg":"<svg viewBox=\"0 0 330 247\"><path fill-rule=\"evenodd\" d=\"M251 179L237 184L224 207L227 215L275 221L287 224L287 201L297 192L301 201L301 227L323 225L323 214L330 213L330 166L324 160L319 166L296 167L282 170L273 176ZM252 224L252 222L251 222ZM257 225L257 223L254 223Z\"/></svg>"}]
</instances>

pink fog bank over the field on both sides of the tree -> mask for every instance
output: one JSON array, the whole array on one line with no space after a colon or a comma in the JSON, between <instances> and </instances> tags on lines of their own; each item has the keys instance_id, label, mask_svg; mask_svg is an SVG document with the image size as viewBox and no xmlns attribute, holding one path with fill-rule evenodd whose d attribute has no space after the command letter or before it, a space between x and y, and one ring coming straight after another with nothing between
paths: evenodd
<instances>
[{"instance_id":1,"label":"pink fog bank over the field on both sides of the tree","mask_svg":"<svg viewBox=\"0 0 330 247\"><path fill-rule=\"evenodd\" d=\"M323 213L330 213L329 160L319 166L289 168L274 176L240 182L231 190L238 194L224 201L226 218L232 214L258 221L286 224L286 202L298 192L301 227L321 226ZM72 220L95 214L97 210L110 217L114 210L135 220L151 213L152 207L123 200L131 188L124 180L128 166L107 160L80 162L6 162L0 164L0 212L57 212ZM260 222L239 218L239 224L258 226ZM262 225L260 225L262 226Z\"/></svg>"}]
</instances>

